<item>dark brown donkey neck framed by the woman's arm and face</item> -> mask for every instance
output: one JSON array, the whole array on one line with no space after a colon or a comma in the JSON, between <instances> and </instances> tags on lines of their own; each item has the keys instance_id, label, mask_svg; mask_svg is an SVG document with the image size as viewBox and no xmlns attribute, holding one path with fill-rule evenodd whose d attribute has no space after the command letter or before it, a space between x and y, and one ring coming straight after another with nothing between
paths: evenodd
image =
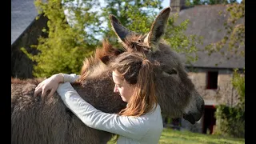
<instances>
[{"instance_id":1,"label":"dark brown donkey neck framed by the woman's arm and face","mask_svg":"<svg viewBox=\"0 0 256 144\"><path fill-rule=\"evenodd\" d=\"M78 94L96 109L106 113L118 113L125 108L126 102L114 93L114 82L110 73L103 73L101 77L88 79L83 83L73 83Z\"/></svg>"}]
</instances>

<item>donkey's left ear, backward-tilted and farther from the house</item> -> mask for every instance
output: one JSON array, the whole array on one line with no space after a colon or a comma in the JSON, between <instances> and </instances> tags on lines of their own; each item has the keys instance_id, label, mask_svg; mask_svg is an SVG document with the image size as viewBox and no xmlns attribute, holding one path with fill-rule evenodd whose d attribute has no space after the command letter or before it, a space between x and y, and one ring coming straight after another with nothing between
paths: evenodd
<instances>
[{"instance_id":1,"label":"donkey's left ear, backward-tilted and farther from the house","mask_svg":"<svg viewBox=\"0 0 256 144\"><path fill-rule=\"evenodd\" d=\"M110 14L110 23L120 42L124 42L127 35L134 33L133 31L122 26L121 22L119 22L118 18L116 18L113 14Z\"/></svg>"}]
</instances>

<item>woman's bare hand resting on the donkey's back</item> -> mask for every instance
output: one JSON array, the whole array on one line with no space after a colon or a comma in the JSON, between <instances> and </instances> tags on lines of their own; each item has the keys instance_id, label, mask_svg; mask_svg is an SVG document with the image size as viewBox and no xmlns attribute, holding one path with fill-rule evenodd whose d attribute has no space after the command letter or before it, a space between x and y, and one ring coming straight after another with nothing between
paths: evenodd
<instances>
[{"instance_id":1,"label":"woman's bare hand resting on the donkey's back","mask_svg":"<svg viewBox=\"0 0 256 144\"><path fill-rule=\"evenodd\" d=\"M49 96L52 96L58 88L58 84L64 82L62 74L54 74L50 78L45 79L34 90L34 96L37 96L42 91L42 98L45 97L46 92L50 90Z\"/></svg>"}]
</instances>

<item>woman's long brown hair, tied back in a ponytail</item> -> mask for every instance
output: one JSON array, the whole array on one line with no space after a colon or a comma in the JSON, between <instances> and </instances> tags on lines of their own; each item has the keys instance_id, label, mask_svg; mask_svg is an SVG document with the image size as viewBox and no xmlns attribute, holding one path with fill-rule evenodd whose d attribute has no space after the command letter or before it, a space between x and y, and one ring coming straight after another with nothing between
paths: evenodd
<instances>
[{"instance_id":1,"label":"woman's long brown hair, tied back in a ponytail","mask_svg":"<svg viewBox=\"0 0 256 144\"><path fill-rule=\"evenodd\" d=\"M146 59L145 54L125 52L120 54L110 66L124 81L134 86L134 94L119 115L140 116L156 108L154 65Z\"/></svg>"}]
</instances>

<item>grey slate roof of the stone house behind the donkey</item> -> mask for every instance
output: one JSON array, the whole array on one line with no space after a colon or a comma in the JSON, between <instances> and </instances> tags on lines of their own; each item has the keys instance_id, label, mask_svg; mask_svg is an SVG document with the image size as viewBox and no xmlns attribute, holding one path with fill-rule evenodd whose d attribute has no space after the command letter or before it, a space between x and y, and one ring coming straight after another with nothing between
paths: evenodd
<instances>
[{"instance_id":1,"label":"grey slate roof of the stone house behind the donkey","mask_svg":"<svg viewBox=\"0 0 256 144\"><path fill-rule=\"evenodd\" d=\"M219 10L226 10L226 5L203 5L186 8L179 12L177 23L190 19L186 34L201 35L204 45L198 46L198 48L202 50L206 44L218 42L226 34L223 23L227 19L227 14L220 16ZM244 23L244 19L241 22ZM222 30L218 31L220 29ZM225 48L227 50L227 46ZM241 50L244 49L245 47L241 48ZM206 52L198 52L198 57L198 61L194 62L193 66L214 68L243 68L245 66L245 58L242 56L226 60L221 54L211 54L209 56ZM230 57L230 54L227 54L226 57ZM218 63L218 66L215 66L216 63Z\"/></svg>"}]
</instances>

